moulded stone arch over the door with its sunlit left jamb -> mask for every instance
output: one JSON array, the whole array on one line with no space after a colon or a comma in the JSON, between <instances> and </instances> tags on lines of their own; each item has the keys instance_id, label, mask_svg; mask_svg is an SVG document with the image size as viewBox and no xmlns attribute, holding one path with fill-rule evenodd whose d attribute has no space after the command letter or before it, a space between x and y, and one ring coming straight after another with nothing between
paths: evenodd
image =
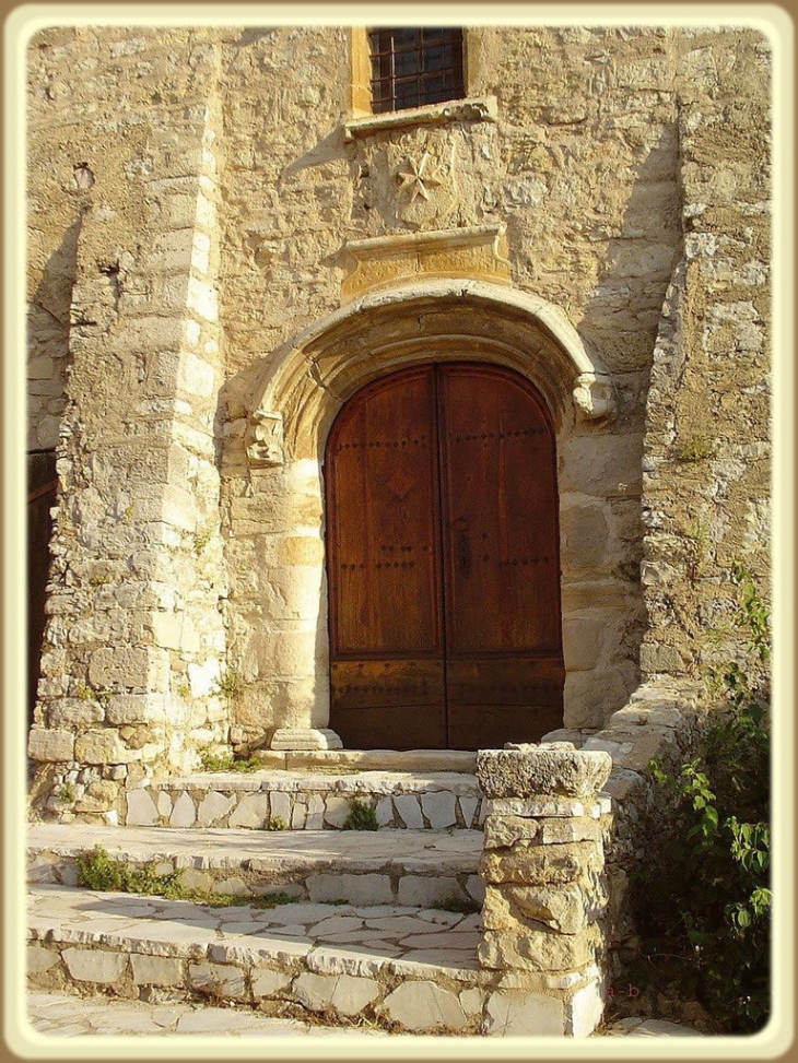
<instances>
[{"instance_id":1,"label":"moulded stone arch over the door with its sunlit left jamb","mask_svg":"<svg viewBox=\"0 0 798 1063\"><path fill-rule=\"evenodd\" d=\"M273 558L262 580L262 630L239 651L245 683L248 666L270 677L256 676L261 694L244 704L239 722L250 733L277 729L275 747L287 732L287 746L324 744L318 733L329 721L322 460L332 422L365 385L431 361L519 373L542 395L559 449L585 420L612 417L609 376L566 318L542 299L484 282L373 292L275 351L250 408L249 498L237 507L250 535L268 513L260 553Z\"/></svg>"}]
</instances>

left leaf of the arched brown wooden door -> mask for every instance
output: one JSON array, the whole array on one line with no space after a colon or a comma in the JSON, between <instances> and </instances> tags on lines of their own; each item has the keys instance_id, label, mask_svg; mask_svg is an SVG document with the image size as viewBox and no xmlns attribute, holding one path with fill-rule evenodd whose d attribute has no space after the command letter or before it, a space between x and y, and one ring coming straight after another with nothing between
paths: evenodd
<instances>
[{"instance_id":1,"label":"left leaf of the arched brown wooden door","mask_svg":"<svg viewBox=\"0 0 798 1063\"><path fill-rule=\"evenodd\" d=\"M379 380L327 445L330 725L350 747L446 745L434 395L429 366Z\"/></svg>"}]
</instances>

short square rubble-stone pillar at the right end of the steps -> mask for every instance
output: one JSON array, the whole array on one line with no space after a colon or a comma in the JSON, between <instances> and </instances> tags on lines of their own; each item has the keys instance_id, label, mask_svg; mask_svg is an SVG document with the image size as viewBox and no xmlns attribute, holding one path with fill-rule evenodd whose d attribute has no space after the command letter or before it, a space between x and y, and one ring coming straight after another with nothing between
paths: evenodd
<instances>
[{"instance_id":1,"label":"short square rubble-stone pillar at the right end of the steps","mask_svg":"<svg viewBox=\"0 0 798 1063\"><path fill-rule=\"evenodd\" d=\"M612 760L570 742L477 755L490 799L480 966L503 972L488 1002L489 1034L586 1037L603 1011L600 789Z\"/></svg>"}]
</instances>

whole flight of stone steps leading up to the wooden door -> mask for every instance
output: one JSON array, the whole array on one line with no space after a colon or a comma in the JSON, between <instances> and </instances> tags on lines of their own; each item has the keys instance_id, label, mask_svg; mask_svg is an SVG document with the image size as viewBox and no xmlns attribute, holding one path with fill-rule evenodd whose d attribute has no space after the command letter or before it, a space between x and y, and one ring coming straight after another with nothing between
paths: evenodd
<instances>
[{"instance_id":1,"label":"whole flight of stone steps leading up to the wooden door","mask_svg":"<svg viewBox=\"0 0 798 1063\"><path fill-rule=\"evenodd\" d=\"M525 976L524 988L480 966L488 801L474 759L267 754L251 773L130 791L116 826L32 825L32 989L396 1032L590 1034L595 965ZM353 802L378 829L342 829ZM541 814L574 814L550 804ZM78 857L97 846L159 875L181 872L199 900L79 887Z\"/></svg>"}]
</instances>

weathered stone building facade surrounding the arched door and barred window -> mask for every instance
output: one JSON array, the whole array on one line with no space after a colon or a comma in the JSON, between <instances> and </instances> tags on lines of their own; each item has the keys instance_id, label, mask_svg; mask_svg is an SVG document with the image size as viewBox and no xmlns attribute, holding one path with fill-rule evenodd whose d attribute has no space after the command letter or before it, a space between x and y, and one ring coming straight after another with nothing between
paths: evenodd
<instances>
[{"instance_id":1,"label":"weathered stone building facade surrounding the arched door and barred window","mask_svg":"<svg viewBox=\"0 0 798 1063\"><path fill-rule=\"evenodd\" d=\"M465 98L387 115L357 28L31 39L49 815L114 822L209 745L325 742L325 441L402 367L501 365L547 403L566 728L697 676L731 559L766 587L768 40L463 37Z\"/></svg>"}]
</instances>

